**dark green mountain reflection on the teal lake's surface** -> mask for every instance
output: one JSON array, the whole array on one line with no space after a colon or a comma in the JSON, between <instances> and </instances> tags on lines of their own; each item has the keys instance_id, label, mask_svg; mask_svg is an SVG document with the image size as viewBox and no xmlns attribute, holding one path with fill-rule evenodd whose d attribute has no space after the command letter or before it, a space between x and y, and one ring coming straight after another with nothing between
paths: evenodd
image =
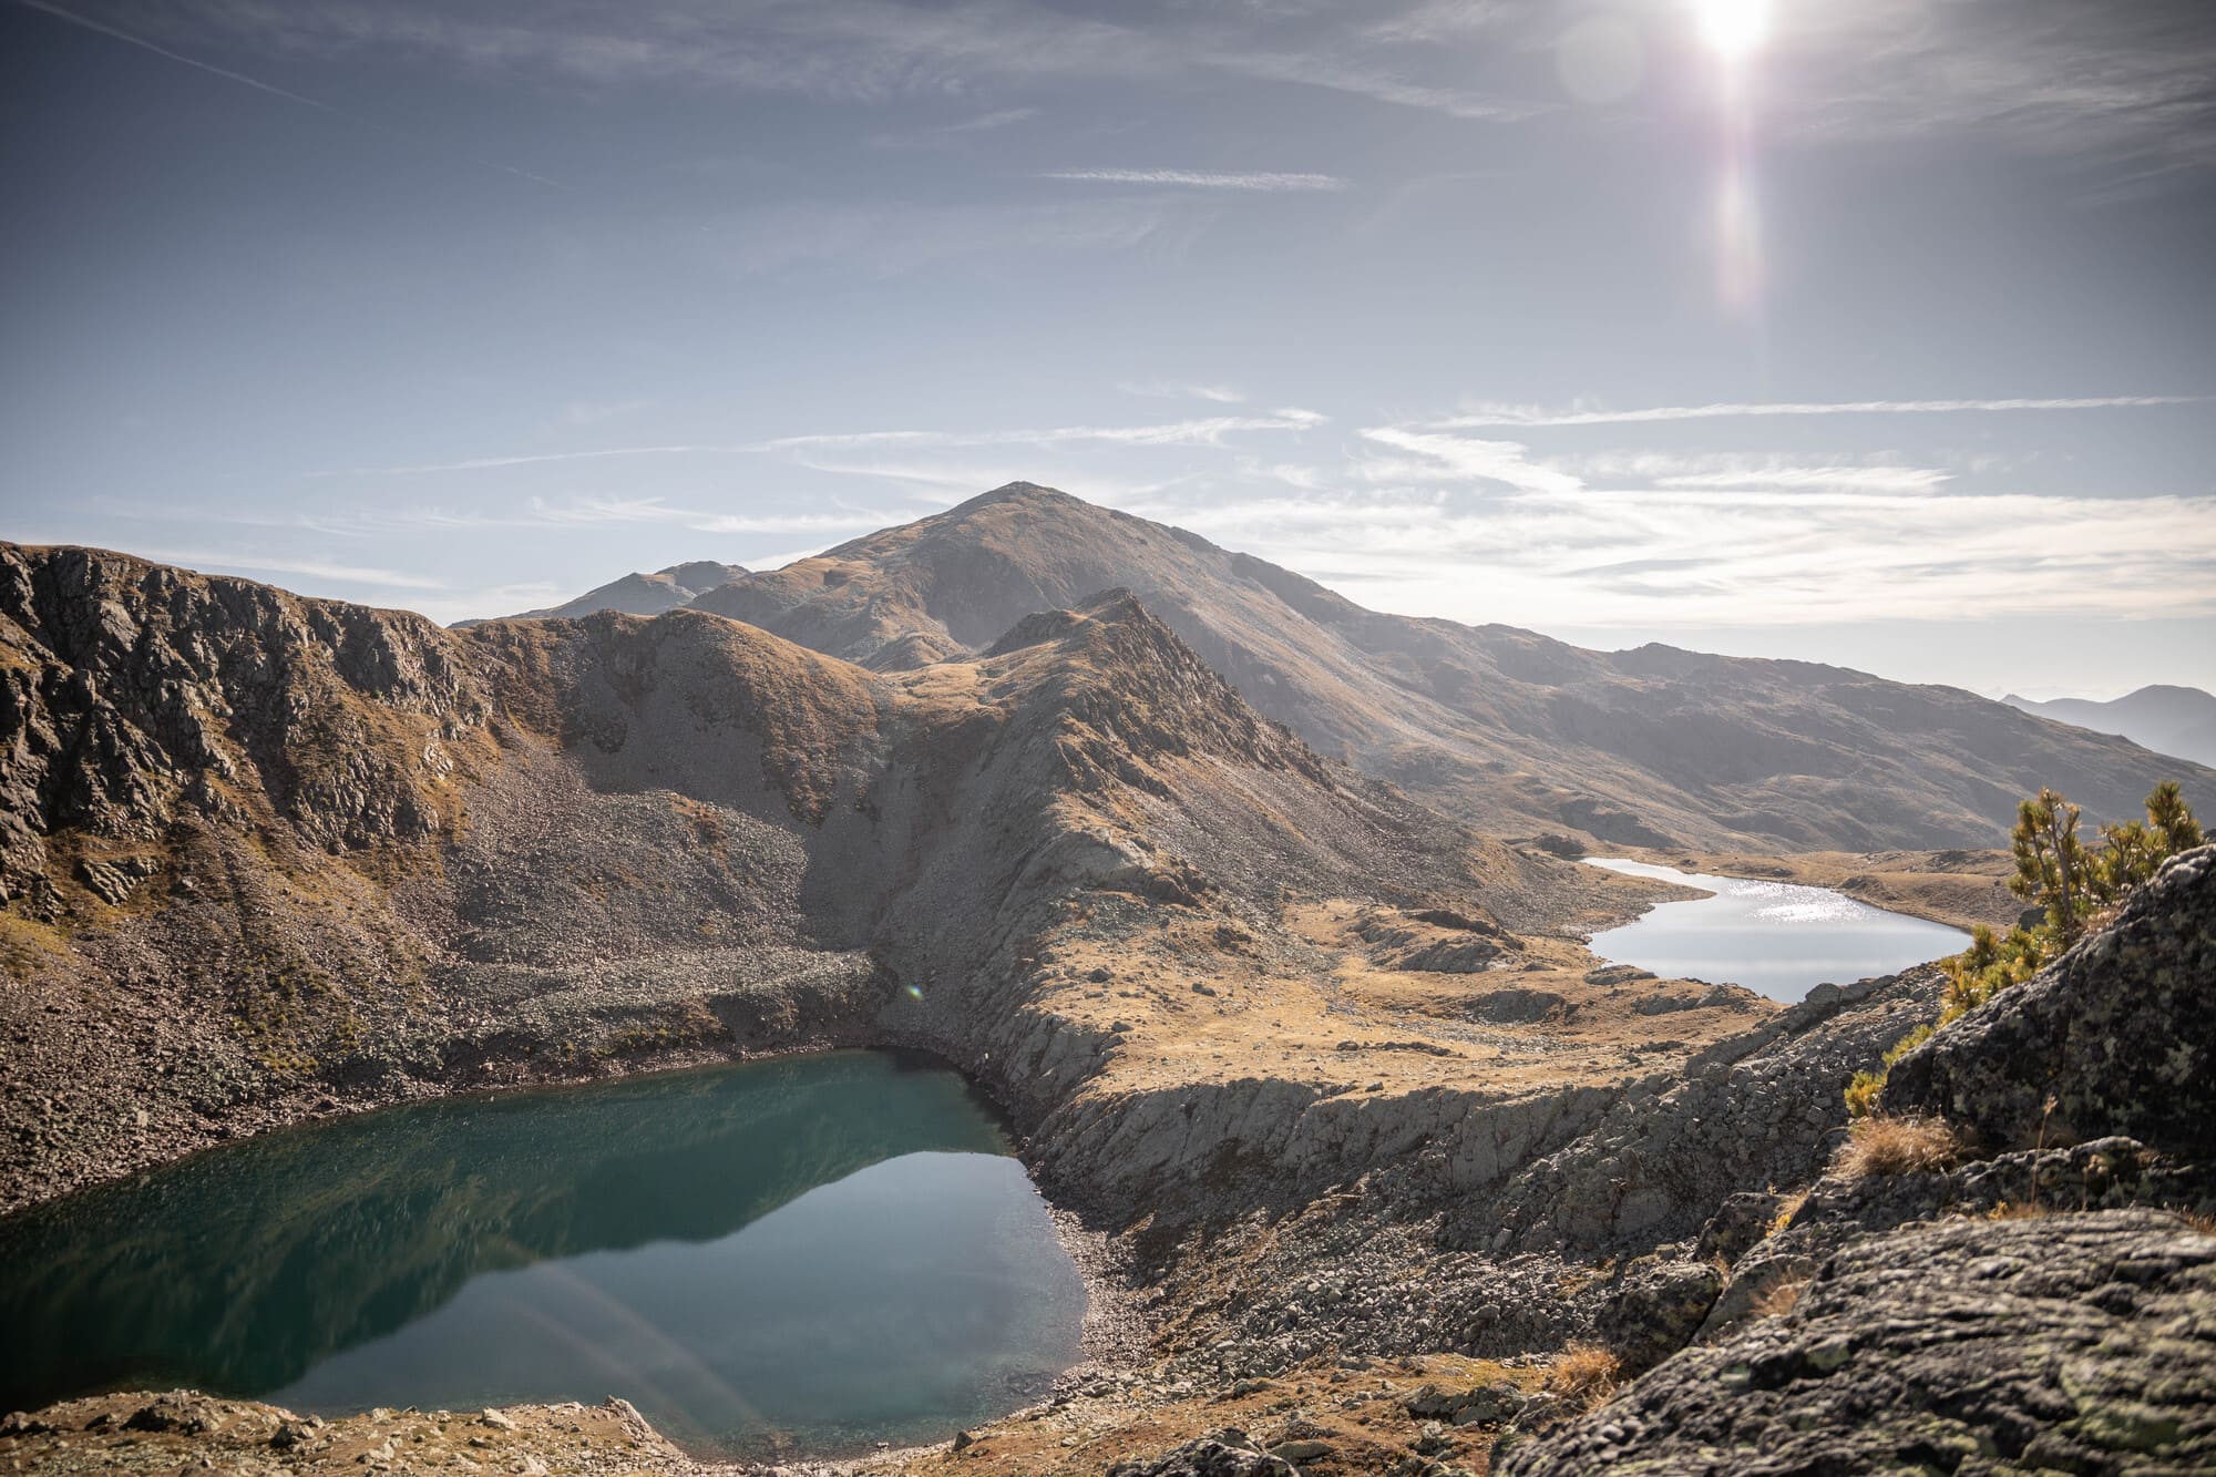
<instances>
[{"instance_id":1,"label":"dark green mountain reflection on the teal lake's surface","mask_svg":"<svg viewBox=\"0 0 2216 1477\"><path fill-rule=\"evenodd\" d=\"M191 1158L0 1222L0 1408L102 1386L264 1393L479 1273L707 1242L915 1151L1006 1153L886 1053L459 1098Z\"/></svg>"}]
</instances>

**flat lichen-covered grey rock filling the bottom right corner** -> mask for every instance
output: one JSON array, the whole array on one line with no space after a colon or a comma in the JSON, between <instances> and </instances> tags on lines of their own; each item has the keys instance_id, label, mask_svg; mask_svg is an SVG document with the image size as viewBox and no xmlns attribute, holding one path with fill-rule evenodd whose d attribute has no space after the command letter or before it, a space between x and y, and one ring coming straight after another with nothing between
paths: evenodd
<instances>
[{"instance_id":1,"label":"flat lichen-covered grey rock filling the bottom right corner","mask_svg":"<svg viewBox=\"0 0 2216 1477\"><path fill-rule=\"evenodd\" d=\"M1950 1220L1516 1448L1509 1477L2216 1468L2216 1237L2158 1211Z\"/></svg>"}]
</instances>

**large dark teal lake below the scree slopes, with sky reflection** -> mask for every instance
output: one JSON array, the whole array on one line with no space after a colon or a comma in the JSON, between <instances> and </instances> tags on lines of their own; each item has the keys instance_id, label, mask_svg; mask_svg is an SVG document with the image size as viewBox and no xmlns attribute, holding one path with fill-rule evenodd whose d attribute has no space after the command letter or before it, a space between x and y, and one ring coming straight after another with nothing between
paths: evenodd
<instances>
[{"instance_id":1,"label":"large dark teal lake below the scree slopes, with sky reflection","mask_svg":"<svg viewBox=\"0 0 2216 1477\"><path fill-rule=\"evenodd\" d=\"M1075 1364L1086 1288L955 1071L840 1051L286 1129L0 1222L0 1410L620 1395L718 1457L931 1442Z\"/></svg>"}]
</instances>

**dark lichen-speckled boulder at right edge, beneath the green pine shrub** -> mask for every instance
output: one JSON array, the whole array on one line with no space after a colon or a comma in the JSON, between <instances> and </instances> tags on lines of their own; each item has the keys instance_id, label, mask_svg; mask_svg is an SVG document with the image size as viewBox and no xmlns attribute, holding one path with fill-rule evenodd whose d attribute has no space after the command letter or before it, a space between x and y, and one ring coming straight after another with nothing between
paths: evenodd
<instances>
[{"instance_id":1,"label":"dark lichen-speckled boulder at right edge, beneath the green pine shrub","mask_svg":"<svg viewBox=\"0 0 2216 1477\"><path fill-rule=\"evenodd\" d=\"M2110 927L1908 1051L1884 1107L1992 1149L2127 1133L2216 1158L2216 847L2172 858Z\"/></svg>"}]
</instances>

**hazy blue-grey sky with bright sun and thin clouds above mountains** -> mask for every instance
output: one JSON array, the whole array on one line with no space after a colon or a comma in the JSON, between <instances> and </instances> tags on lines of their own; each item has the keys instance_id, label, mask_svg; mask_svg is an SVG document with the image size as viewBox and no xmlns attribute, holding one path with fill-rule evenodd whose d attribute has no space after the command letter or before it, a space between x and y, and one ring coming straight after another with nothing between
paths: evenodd
<instances>
[{"instance_id":1,"label":"hazy blue-grey sky with bright sun and thin clouds above mountains","mask_svg":"<svg viewBox=\"0 0 2216 1477\"><path fill-rule=\"evenodd\" d=\"M2207 0L0 0L0 537L441 621L1013 479L2216 687Z\"/></svg>"}]
</instances>

